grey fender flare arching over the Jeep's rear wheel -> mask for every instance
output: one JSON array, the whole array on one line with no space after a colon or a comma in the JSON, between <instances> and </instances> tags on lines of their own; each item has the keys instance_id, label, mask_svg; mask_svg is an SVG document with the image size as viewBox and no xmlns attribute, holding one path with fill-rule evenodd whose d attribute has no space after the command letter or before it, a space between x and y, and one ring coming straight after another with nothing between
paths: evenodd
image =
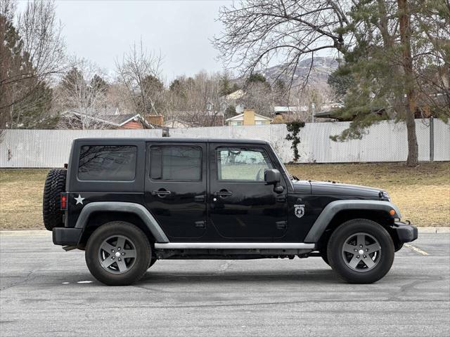
<instances>
[{"instance_id":1,"label":"grey fender flare arching over the Jeep's rear wheel","mask_svg":"<svg viewBox=\"0 0 450 337\"><path fill-rule=\"evenodd\" d=\"M84 230L86 223L89 220L89 216L92 213L98 211L106 212L124 212L124 213L134 213L139 216L143 223L146 224L148 230L155 237L156 242L167 243L169 239L165 232L162 230L155 217L141 204L136 204L133 202L120 202L120 201L96 201L86 204L79 214L75 228Z\"/></svg>"}]
</instances>

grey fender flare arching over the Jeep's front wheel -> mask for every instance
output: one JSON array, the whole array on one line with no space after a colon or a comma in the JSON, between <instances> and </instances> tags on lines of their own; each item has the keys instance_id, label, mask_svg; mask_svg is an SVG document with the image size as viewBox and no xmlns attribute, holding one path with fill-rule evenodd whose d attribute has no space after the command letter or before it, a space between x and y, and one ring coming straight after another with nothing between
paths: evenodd
<instances>
[{"instance_id":1,"label":"grey fender flare arching over the Jeep's front wheel","mask_svg":"<svg viewBox=\"0 0 450 337\"><path fill-rule=\"evenodd\" d=\"M304 238L304 242L316 243L321 238L323 232L325 232L326 228L330 224L330 221L334 218L334 216L340 211L344 210L375 210L375 211L385 211L389 214L389 212L393 209L394 215L392 218L401 218L400 211L397 206L392 204L390 201L381 201L381 200L335 200L331 201L328 204L321 214L319 218L316 219L314 225L312 225L309 230L307 236ZM391 215L390 215L391 216Z\"/></svg>"}]
</instances>

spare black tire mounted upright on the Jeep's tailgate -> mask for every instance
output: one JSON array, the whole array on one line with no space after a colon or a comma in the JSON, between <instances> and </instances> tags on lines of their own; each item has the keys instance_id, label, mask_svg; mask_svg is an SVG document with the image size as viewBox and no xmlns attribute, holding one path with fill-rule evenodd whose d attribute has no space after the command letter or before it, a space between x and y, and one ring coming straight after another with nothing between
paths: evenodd
<instances>
[{"instance_id":1,"label":"spare black tire mounted upright on the Jeep's tailgate","mask_svg":"<svg viewBox=\"0 0 450 337\"><path fill-rule=\"evenodd\" d=\"M67 170L51 169L47 174L42 197L42 216L46 230L63 227L63 211L60 210L60 193L65 192Z\"/></svg>"}]
</instances>

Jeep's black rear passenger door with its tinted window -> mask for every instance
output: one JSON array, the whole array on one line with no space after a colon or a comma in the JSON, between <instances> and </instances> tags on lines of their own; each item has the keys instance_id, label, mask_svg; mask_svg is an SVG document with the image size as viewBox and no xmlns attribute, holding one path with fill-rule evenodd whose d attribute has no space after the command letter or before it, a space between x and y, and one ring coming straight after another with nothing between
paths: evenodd
<instances>
[{"instance_id":1,"label":"Jeep's black rear passenger door with its tinted window","mask_svg":"<svg viewBox=\"0 0 450 337\"><path fill-rule=\"evenodd\" d=\"M145 202L171 241L206 231L205 143L148 143Z\"/></svg>"}]
</instances>

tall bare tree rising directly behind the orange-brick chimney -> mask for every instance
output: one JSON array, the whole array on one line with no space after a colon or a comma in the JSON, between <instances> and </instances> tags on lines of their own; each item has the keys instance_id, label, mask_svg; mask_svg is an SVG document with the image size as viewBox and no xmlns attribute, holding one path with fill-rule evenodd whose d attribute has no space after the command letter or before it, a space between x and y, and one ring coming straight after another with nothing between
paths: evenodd
<instances>
[{"instance_id":1,"label":"tall bare tree rising directly behind the orange-brick chimney","mask_svg":"<svg viewBox=\"0 0 450 337\"><path fill-rule=\"evenodd\" d=\"M133 44L122 60L115 62L118 80L127 87L134 109L143 117L160 113L157 100L163 91L161 64L162 56L147 51L142 41L138 45Z\"/></svg>"}]
</instances>

